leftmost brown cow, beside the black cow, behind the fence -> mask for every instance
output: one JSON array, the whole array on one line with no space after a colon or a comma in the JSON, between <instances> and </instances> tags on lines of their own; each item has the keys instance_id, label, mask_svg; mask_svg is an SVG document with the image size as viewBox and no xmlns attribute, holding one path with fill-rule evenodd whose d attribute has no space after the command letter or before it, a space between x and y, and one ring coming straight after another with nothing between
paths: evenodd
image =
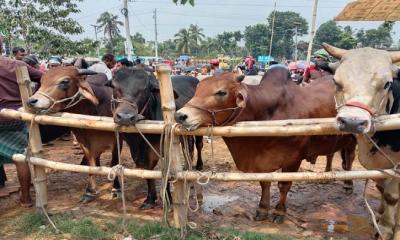
<instances>
[{"instance_id":1,"label":"leftmost brown cow, beside the black cow, behind the fence","mask_svg":"<svg viewBox=\"0 0 400 240\"><path fill-rule=\"evenodd\" d=\"M43 75L41 87L28 99L28 105L36 112L59 112L112 116L112 89L105 87L107 77L89 70L75 67L50 69ZM86 75L88 76L86 79ZM84 153L82 162L96 166L100 155L110 149L113 151L111 165L118 163L116 138L113 132L90 129L72 129ZM119 182L114 181L114 188L119 189ZM89 175L89 183L81 201L95 199L97 193L94 176Z\"/></svg>"}]
</instances>

